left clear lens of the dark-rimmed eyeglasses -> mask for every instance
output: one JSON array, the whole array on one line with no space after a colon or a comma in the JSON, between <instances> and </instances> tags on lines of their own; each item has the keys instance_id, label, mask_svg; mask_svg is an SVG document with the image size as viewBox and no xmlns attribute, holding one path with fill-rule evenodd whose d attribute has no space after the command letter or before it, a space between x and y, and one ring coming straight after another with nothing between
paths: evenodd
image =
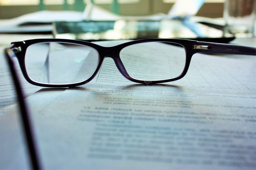
<instances>
[{"instance_id":1,"label":"left clear lens of the dark-rimmed eyeglasses","mask_svg":"<svg viewBox=\"0 0 256 170\"><path fill-rule=\"evenodd\" d=\"M44 42L28 46L25 67L31 80L44 84L72 84L87 80L99 62L98 52L91 47Z\"/></svg>"}]
</instances>

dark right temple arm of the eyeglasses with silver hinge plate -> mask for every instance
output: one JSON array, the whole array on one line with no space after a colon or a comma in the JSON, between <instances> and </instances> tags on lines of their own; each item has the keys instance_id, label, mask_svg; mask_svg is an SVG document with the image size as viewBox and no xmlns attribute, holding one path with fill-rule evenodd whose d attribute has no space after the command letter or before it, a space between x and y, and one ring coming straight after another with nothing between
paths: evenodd
<instances>
[{"instance_id":1,"label":"dark right temple arm of the eyeglasses with silver hinge plate","mask_svg":"<svg viewBox=\"0 0 256 170\"><path fill-rule=\"evenodd\" d=\"M197 41L193 45L197 53L256 55L256 48L231 44Z\"/></svg>"}]
</instances>

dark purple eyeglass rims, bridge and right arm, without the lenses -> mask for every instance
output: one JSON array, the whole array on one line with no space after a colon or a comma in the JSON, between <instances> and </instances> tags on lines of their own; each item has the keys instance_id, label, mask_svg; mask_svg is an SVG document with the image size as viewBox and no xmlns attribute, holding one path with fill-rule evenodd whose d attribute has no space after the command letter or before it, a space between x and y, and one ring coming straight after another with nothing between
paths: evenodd
<instances>
[{"instance_id":1,"label":"dark purple eyeglass rims, bridge and right arm, without the lenses","mask_svg":"<svg viewBox=\"0 0 256 170\"><path fill-rule=\"evenodd\" d=\"M33 81L31 78L29 78L28 73L26 71L25 66L25 54L27 48L36 43L46 43L46 42L60 42L60 43L71 43L71 44L77 44L77 45L84 45L90 48L95 49L98 52L98 65L92 75L87 78L86 80L78 83L70 83L70 84L47 84L47 83L39 83L36 81ZM166 42L166 43L174 43L175 45L179 44L181 45L186 52L186 62L185 67L182 71L182 73L175 77L170 79L164 79L164 80L138 80L135 78L132 78L127 73L121 59L120 59L120 51L130 45L139 44L139 43L146 43L146 42ZM183 78L189 68L190 61L192 59L192 56L196 53L207 53L207 54L237 54L237 55L256 55L256 48L253 47L246 47L246 46L239 46L239 45L231 45L231 44L221 44L221 43L213 43L213 42L202 42L202 41L195 41L195 40L185 40L185 39L161 39L161 38L153 38L153 39L142 39L142 40L135 40L135 41L129 41L125 42L113 47L103 47L91 42L87 41L80 41L80 40L69 40L69 39L32 39L32 40L25 40L25 41L19 41L19 42L12 42L11 49L16 58L18 59L21 72L25 79L33 85L42 86L42 87L74 87L79 85L84 85L88 82L90 82L99 72L100 67L103 63L104 58L110 57L114 60L117 69L120 71L120 73L128 80L136 83L142 83L142 84L156 84L156 83L166 83L171 82L175 80L179 80ZM5 53L8 55L8 52ZM9 55L9 57L12 57Z\"/></svg>"}]
</instances>

